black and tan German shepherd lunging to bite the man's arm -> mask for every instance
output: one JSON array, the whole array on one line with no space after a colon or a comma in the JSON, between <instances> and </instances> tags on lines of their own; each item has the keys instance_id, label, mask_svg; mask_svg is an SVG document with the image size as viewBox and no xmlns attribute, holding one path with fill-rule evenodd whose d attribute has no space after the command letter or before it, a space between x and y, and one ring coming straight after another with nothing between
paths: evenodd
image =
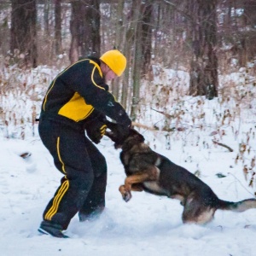
<instances>
[{"instance_id":1,"label":"black and tan German shepherd lunging to bite the man's arm","mask_svg":"<svg viewBox=\"0 0 256 256\"><path fill-rule=\"evenodd\" d=\"M194 224L207 224L218 209L244 212L256 208L255 199L238 202L218 199L200 178L149 148L138 131L130 129L125 134L120 125L111 122L107 125L110 131L106 135L115 148L122 149L120 160L127 177L119 192L124 201L131 200L131 190L166 195L181 202L183 223Z\"/></svg>"}]
</instances>

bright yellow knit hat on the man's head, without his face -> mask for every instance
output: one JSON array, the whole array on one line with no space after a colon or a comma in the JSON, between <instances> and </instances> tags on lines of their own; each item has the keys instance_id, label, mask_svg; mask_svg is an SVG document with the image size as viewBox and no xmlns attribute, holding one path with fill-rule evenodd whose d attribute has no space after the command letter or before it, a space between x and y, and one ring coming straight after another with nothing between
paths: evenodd
<instances>
[{"instance_id":1,"label":"bright yellow knit hat on the man's head, without his face","mask_svg":"<svg viewBox=\"0 0 256 256\"><path fill-rule=\"evenodd\" d=\"M118 76L121 76L125 71L126 58L118 49L108 50L100 57L100 59L104 61Z\"/></svg>"}]
</instances>

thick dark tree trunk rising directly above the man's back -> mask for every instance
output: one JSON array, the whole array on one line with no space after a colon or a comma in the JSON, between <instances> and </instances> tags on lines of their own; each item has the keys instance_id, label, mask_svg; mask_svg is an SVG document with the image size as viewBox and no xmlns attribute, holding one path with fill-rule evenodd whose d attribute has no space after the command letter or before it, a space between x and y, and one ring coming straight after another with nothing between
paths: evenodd
<instances>
[{"instance_id":1,"label":"thick dark tree trunk rising directly above the man's back","mask_svg":"<svg viewBox=\"0 0 256 256\"><path fill-rule=\"evenodd\" d=\"M72 3L70 32L72 35L69 59L78 61L87 55L100 55L100 1L79 0Z\"/></svg>"}]
</instances>

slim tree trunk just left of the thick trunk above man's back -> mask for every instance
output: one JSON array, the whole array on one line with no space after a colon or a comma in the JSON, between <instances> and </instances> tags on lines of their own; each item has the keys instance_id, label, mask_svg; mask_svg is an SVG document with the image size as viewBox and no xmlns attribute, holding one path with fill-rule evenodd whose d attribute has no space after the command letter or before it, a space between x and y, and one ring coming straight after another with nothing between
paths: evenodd
<instances>
[{"instance_id":1,"label":"slim tree trunk just left of the thick trunk above man's back","mask_svg":"<svg viewBox=\"0 0 256 256\"><path fill-rule=\"evenodd\" d=\"M55 53L61 52L61 0L55 0Z\"/></svg>"}]
</instances>

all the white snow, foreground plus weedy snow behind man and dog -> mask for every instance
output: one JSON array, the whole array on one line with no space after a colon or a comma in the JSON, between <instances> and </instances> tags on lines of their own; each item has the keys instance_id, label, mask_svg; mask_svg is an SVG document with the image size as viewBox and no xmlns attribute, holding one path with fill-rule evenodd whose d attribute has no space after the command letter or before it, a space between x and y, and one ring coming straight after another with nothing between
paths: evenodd
<instances>
[{"instance_id":1,"label":"all the white snow, foreground plus weedy snow behind man and dog","mask_svg":"<svg viewBox=\"0 0 256 256\"><path fill-rule=\"evenodd\" d=\"M182 96L185 90L180 87L188 77L183 73L165 72L166 81L155 79L159 85L148 87L155 96L145 100L137 120L148 128L137 127L137 130L151 148L199 175L221 199L241 201L254 197L255 88L245 84L242 89L247 94L240 97L239 93L244 92L235 90L243 85L237 79L240 74L232 74L221 78L220 84L227 87L229 80L238 81L232 91L237 93L239 104L236 97L231 96L230 88L225 89L222 84L220 88L226 90L224 94L230 96L229 100L220 96L207 101L204 97ZM34 73L37 71L31 75L35 76ZM25 79L27 91L20 93L17 87L1 97L8 120L0 123L2 255L256 255L256 209L241 213L217 211L210 224L201 226L182 223L183 207L176 200L132 192L131 201L123 201L118 189L124 183L125 172L119 161L119 150L113 148L108 137L103 137L97 145L108 162L106 210L99 218L84 223L79 223L75 216L66 232L69 239L40 235L38 226L44 207L59 186L61 172L55 169L51 155L38 137L38 125L32 123L32 109L38 113L46 84L56 71L49 72L47 67L42 67L38 73L48 77L38 76L36 82L20 78L22 83ZM42 88L37 85L33 89L33 83L42 83ZM168 84L172 84L174 90L160 94ZM32 101L34 98L36 102ZM152 108L172 115L172 119L166 119ZM153 126L172 129L151 131ZM212 140L229 146L233 152ZM26 152L31 156L21 158L20 154ZM243 170L247 170L247 178ZM249 186L251 180L253 184Z\"/></svg>"}]
</instances>

